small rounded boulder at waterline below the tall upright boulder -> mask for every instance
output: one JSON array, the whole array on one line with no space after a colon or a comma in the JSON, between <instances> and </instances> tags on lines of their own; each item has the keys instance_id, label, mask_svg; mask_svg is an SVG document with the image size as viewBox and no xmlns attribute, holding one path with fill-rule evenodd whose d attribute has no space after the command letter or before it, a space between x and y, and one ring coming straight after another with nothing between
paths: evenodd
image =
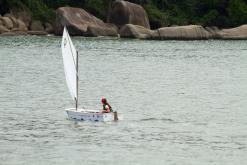
<instances>
[{"instance_id":1,"label":"small rounded boulder at waterline below the tall upright boulder","mask_svg":"<svg viewBox=\"0 0 247 165\"><path fill-rule=\"evenodd\" d=\"M120 37L152 39L158 37L157 31L147 29L143 26L126 24L119 30Z\"/></svg>"}]
</instances>

